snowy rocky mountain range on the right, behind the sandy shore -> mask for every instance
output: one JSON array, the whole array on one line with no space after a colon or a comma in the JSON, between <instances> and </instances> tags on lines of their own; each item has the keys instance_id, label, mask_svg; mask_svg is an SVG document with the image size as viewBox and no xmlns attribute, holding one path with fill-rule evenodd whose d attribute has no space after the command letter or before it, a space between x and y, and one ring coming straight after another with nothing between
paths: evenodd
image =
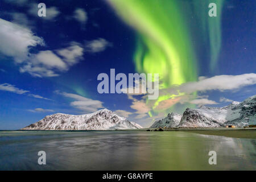
<instances>
[{"instance_id":1,"label":"snowy rocky mountain range on the right, behind the sandy shore","mask_svg":"<svg viewBox=\"0 0 256 182\"><path fill-rule=\"evenodd\" d=\"M206 107L199 109L187 108L180 120L175 120L168 114L166 118L156 121L151 127L223 127L233 125L243 127L256 125L256 96L247 98L243 102L232 102L225 107ZM170 119L168 119L170 118ZM175 123L166 125L166 121Z\"/></svg>"}]
</instances>

